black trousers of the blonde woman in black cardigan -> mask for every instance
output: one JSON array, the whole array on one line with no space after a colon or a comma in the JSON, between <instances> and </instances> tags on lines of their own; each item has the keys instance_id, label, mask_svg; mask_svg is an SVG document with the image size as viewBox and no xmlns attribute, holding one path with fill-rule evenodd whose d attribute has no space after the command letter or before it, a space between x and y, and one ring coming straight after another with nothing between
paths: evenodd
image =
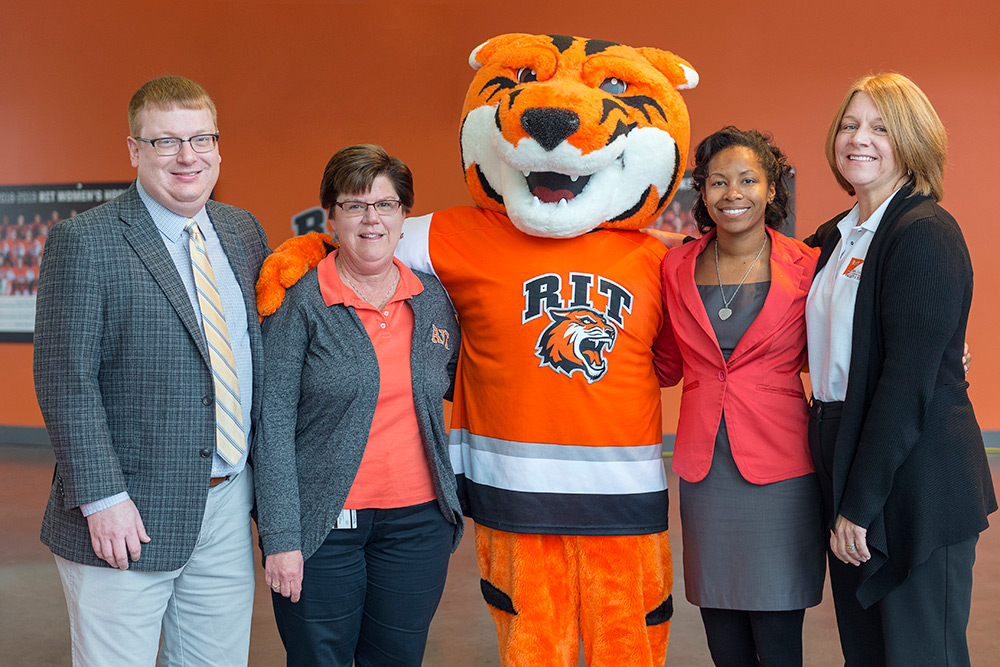
<instances>
[{"instance_id":1,"label":"black trousers of the blonde woman in black cardigan","mask_svg":"<svg viewBox=\"0 0 1000 667\"><path fill-rule=\"evenodd\" d=\"M823 516L833 525L833 450L842 403L813 400L809 449L823 493ZM861 568L829 553L830 587L846 667L969 665L965 632L972 605L972 564L979 536L946 545L910 570L906 580L864 609L856 595Z\"/></svg>"}]
</instances>

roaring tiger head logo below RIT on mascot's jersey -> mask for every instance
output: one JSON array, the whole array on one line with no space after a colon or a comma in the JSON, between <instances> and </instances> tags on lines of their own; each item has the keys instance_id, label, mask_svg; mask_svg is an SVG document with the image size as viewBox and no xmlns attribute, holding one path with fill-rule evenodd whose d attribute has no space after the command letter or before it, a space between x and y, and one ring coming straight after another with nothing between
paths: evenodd
<instances>
[{"instance_id":1,"label":"roaring tiger head logo below RIT on mascot's jersey","mask_svg":"<svg viewBox=\"0 0 1000 667\"><path fill-rule=\"evenodd\" d=\"M572 377L580 372L593 383L608 372L605 352L615 346L618 331L602 313L593 308L549 308L552 323L538 336L535 356L538 366L548 366Z\"/></svg>"}]
</instances>

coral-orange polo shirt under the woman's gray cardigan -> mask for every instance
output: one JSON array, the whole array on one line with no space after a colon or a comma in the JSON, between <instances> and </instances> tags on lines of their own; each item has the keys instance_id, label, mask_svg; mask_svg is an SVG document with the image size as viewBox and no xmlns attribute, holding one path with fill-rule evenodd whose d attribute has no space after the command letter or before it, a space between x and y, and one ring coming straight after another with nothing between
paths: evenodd
<instances>
[{"instance_id":1,"label":"coral-orange polo shirt under the woman's gray cardigan","mask_svg":"<svg viewBox=\"0 0 1000 667\"><path fill-rule=\"evenodd\" d=\"M399 285L385 308L377 310L340 279L334 263L337 254L328 255L316 267L320 293L327 306L342 303L354 308L375 348L379 367L375 416L344 508L407 507L434 500L437 494L417 425L410 372L413 310L407 299L424 286L409 268L393 259Z\"/></svg>"}]
</instances>

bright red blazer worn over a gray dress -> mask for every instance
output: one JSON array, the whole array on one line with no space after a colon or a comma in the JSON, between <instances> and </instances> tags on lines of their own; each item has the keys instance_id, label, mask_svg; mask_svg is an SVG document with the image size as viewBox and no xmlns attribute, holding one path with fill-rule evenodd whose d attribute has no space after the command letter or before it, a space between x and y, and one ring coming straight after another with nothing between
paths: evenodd
<instances>
[{"instance_id":1,"label":"bright red blazer worn over a gray dress","mask_svg":"<svg viewBox=\"0 0 1000 667\"><path fill-rule=\"evenodd\" d=\"M654 365L664 386L684 377L673 469L688 482L708 474L723 409L733 458L748 482L767 484L814 470L800 372L806 361L806 295L819 252L767 233L771 287L728 363L694 282L695 258L715 232L663 259L664 331Z\"/></svg>"}]
</instances>

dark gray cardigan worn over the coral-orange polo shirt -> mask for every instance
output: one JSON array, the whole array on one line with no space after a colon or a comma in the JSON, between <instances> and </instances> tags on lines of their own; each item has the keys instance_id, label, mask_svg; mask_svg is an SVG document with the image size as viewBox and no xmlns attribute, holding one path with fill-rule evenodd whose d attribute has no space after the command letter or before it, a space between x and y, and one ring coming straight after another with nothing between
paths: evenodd
<instances>
[{"instance_id":1,"label":"dark gray cardigan worn over the coral-orange polo shirt","mask_svg":"<svg viewBox=\"0 0 1000 667\"><path fill-rule=\"evenodd\" d=\"M413 402L438 507L455 526L457 547L464 524L442 399L451 398L460 334L441 283L414 273L424 289L410 300ZM434 327L448 332L447 347ZM361 465L378 400L378 359L354 309L323 302L315 270L289 288L263 328L257 528L264 555L301 550L309 558L336 523Z\"/></svg>"}]
</instances>

